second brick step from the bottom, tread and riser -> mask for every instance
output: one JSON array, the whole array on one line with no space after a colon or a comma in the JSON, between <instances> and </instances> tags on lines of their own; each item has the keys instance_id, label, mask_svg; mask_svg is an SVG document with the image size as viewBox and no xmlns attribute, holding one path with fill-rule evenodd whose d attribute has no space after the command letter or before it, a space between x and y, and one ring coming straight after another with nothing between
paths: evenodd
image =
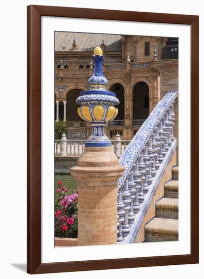
<instances>
[{"instance_id":1,"label":"second brick step from the bottom, tread and riser","mask_svg":"<svg viewBox=\"0 0 204 279\"><path fill-rule=\"evenodd\" d=\"M162 198L156 202L156 217L179 218L179 200L177 198Z\"/></svg>"}]
</instances>

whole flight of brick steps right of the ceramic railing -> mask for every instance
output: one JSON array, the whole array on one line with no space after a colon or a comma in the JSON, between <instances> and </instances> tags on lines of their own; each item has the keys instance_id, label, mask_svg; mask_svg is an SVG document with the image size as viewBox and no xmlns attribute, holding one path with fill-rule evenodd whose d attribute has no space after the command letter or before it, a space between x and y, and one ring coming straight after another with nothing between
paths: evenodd
<instances>
[{"instance_id":1,"label":"whole flight of brick steps right of the ceramic railing","mask_svg":"<svg viewBox=\"0 0 204 279\"><path fill-rule=\"evenodd\" d=\"M156 215L145 226L145 242L179 239L179 167L172 168L172 180L164 184L164 197L155 204Z\"/></svg>"}]
</instances>

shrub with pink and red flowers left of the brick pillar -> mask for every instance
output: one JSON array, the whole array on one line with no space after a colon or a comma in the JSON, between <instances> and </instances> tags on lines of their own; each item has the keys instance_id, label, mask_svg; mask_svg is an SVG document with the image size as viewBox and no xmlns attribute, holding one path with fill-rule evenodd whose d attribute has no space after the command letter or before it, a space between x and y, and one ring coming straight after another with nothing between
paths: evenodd
<instances>
[{"instance_id":1,"label":"shrub with pink and red flowers left of the brick pillar","mask_svg":"<svg viewBox=\"0 0 204 279\"><path fill-rule=\"evenodd\" d=\"M55 195L55 236L77 238L78 191L70 195L67 192L59 181Z\"/></svg>"}]
</instances>

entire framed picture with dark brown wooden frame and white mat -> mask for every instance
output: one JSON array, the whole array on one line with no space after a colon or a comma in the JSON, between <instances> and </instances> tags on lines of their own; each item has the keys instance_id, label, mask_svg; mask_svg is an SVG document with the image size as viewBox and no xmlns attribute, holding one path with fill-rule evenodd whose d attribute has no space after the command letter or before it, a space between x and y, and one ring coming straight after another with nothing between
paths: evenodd
<instances>
[{"instance_id":1,"label":"entire framed picture with dark brown wooden frame and white mat","mask_svg":"<svg viewBox=\"0 0 204 279\"><path fill-rule=\"evenodd\" d=\"M27 7L27 272L198 263L198 16Z\"/></svg>"}]
</instances>

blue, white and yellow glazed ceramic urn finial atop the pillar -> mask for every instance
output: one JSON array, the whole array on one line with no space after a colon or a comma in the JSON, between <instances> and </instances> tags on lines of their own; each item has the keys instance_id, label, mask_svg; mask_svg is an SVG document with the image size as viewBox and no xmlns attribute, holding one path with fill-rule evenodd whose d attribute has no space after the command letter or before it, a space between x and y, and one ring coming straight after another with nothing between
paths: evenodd
<instances>
[{"instance_id":1,"label":"blue, white and yellow glazed ceramic urn finial atop the pillar","mask_svg":"<svg viewBox=\"0 0 204 279\"><path fill-rule=\"evenodd\" d=\"M107 91L108 80L103 74L104 55L100 47L93 51L94 70L88 80L89 90L82 91L76 103L79 116L91 123L92 134L85 143L86 147L106 147L111 146L111 141L105 135L106 122L112 121L118 114L115 108L119 104L116 94Z\"/></svg>"}]
</instances>

